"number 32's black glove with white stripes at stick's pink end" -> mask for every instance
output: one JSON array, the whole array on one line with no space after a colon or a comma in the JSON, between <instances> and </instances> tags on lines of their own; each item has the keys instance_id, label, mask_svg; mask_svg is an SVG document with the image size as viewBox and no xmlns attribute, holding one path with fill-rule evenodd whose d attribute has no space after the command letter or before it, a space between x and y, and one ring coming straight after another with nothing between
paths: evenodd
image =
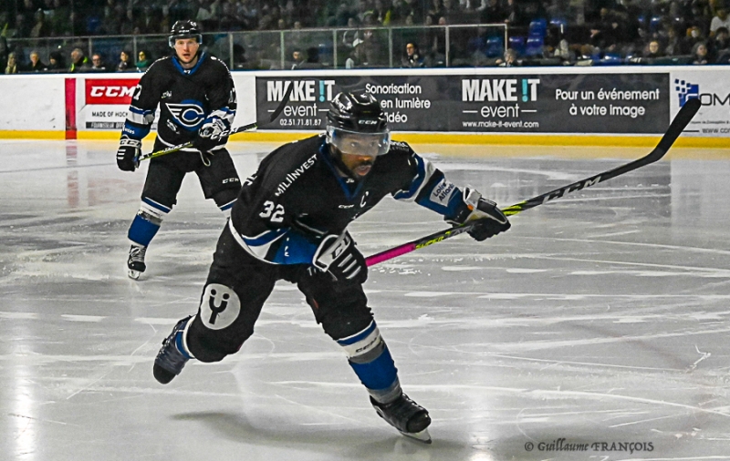
<instances>
[{"instance_id":1,"label":"number 32's black glove with white stripes at stick's pink end","mask_svg":"<svg viewBox=\"0 0 730 461\"><path fill-rule=\"evenodd\" d=\"M339 282L364 283L368 280L365 257L355 247L348 231L325 237L314 255L313 264L320 271L328 271Z\"/></svg>"}]
</instances>

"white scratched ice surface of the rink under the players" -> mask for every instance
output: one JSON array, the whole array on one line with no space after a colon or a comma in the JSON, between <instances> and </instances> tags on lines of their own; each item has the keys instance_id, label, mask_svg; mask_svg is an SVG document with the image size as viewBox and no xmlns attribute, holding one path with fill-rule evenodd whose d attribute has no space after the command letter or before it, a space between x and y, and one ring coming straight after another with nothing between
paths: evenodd
<instances>
[{"instance_id":1,"label":"white scratched ice surface of the rink under the players","mask_svg":"<svg viewBox=\"0 0 730 461\"><path fill-rule=\"evenodd\" d=\"M274 146L229 149L245 177ZM651 148L418 150L508 206ZM0 142L0 459L730 459L730 151L673 149L490 241L371 268L370 306L432 415L431 446L375 414L283 282L240 353L158 384L155 354L196 311L224 218L190 175L131 281L146 167L121 172L115 151ZM383 200L350 231L370 255L445 227Z\"/></svg>"}]
</instances>

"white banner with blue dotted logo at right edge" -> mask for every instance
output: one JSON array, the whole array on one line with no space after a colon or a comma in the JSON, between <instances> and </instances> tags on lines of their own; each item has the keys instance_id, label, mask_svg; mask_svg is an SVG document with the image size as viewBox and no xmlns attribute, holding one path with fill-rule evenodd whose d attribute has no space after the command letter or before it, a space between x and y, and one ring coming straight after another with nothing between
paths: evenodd
<instances>
[{"instance_id":1,"label":"white banner with blue dotted logo at right edge","mask_svg":"<svg viewBox=\"0 0 730 461\"><path fill-rule=\"evenodd\" d=\"M697 98L702 108L684 130L685 136L730 138L730 81L722 67L692 67L671 74L672 112L687 99Z\"/></svg>"}]
</instances>

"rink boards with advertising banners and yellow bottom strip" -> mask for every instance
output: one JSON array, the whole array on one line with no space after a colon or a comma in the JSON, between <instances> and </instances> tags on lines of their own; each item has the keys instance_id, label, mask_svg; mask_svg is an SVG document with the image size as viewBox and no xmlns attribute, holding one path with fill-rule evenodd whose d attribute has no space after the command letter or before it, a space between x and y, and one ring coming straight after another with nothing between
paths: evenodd
<instances>
[{"instance_id":1,"label":"rink boards with advertising banners and yellow bottom strip","mask_svg":"<svg viewBox=\"0 0 730 461\"><path fill-rule=\"evenodd\" d=\"M234 140L322 131L328 99L367 88L420 143L652 146L687 98L703 108L678 146L730 147L730 67L490 67L234 72ZM0 138L115 139L140 74L4 76ZM268 119L294 86L284 111ZM151 135L152 136L152 135Z\"/></svg>"}]
</instances>

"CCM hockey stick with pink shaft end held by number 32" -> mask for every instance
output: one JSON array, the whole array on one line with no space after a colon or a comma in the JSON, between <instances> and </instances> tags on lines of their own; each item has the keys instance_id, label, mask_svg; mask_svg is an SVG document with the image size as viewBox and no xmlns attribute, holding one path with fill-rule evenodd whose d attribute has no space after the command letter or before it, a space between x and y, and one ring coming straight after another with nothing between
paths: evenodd
<instances>
[{"instance_id":1,"label":"CCM hockey stick with pink shaft end held by number 32","mask_svg":"<svg viewBox=\"0 0 730 461\"><path fill-rule=\"evenodd\" d=\"M672 147L674 141L679 138L679 135L682 134L683 129L687 127L687 125L690 123L690 120L692 120L694 114L697 113L701 106L702 103L699 99L688 100L684 104L683 108L680 109L676 117L674 117L672 124L669 126L669 128L667 128L666 133L664 133L664 136L662 136L662 139L659 141L657 147L641 159L633 160L630 163L627 163L615 169L604 171L603 173L591 176L590 178L581 179L572 184L568 184L568 186L563 186L556 190L550 190L549 192L538 195L537 197L533 197L532 199L521 201L519 203L516 203L515 205L512 205L511 207L503 208L502 212L504 212L506 216L513 216L524 210L529 210L531 208L537 207L538 205L547 203L550 200L559 199L566 194L569 194L570 192L575 192L576 190L586 189L591 186L595 186L596 184L603 182L607 179L616 178L617 176L633 171L634 169L640 169L641 167L662 159L664 154L666 154L669 148ZM454 226L451 229L446 229L445 231L434 232L433 234L422 237L421 239L409 241L408 243L403 243L402 245L391 248L390 250L381 251L380 253L373 254L372 256L369 256L365 259L365 263L368 265L368 267L370 267L374 264L378 264L379 262L391 260L396 256L401 256L401 254L419 250L429 245L433 245L433 243L438 243L439 241L444 241L456 235L462 234L472 229L478 223L479 220L472 220L464 224Z\"/></svg>"}]
</instances>

